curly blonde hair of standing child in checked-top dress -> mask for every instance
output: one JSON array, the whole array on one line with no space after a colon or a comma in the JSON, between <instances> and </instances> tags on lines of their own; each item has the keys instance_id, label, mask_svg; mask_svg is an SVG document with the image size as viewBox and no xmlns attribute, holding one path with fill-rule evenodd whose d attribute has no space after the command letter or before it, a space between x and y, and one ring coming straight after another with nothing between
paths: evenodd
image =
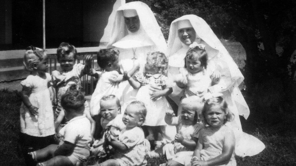
<instances>
[{"instance_id":1,"label":"curly blonde hair of standing child in checked-top dress","mask_svg":"<svg viewBox=\"0 0 296 166\"><path fill-rule=\"evenodd\" d=\"M157 69L158 73L167 75L167 64L168 60L164 53L156 51L147 54L148 65Z\"/></svg>"}]
</instances>

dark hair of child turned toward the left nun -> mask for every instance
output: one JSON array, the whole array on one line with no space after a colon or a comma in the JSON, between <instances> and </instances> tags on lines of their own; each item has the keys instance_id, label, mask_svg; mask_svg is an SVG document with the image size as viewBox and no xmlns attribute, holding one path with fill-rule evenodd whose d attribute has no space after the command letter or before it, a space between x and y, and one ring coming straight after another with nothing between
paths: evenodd
<instances>
[{"instance_id":1,"label":"dark hair of child turned toward the left nun","mask_svg":"<svg viewBox=\"0 0 296 166\"><path fill-rule=\"evenodd\" d=\"M97 63L99 67L105 69L109 63L118 60L119 50L114 48L101 49L98 51Z\"/></svg>"}]
</instances>

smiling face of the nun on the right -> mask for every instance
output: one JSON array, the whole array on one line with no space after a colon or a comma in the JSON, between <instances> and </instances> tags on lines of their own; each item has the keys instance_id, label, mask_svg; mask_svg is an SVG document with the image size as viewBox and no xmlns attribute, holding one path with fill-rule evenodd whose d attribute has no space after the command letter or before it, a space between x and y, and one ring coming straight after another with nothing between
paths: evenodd
<instances>
[{"instance_id":1,"label":"smiling face of the nun on the right","mask_svg":"<svg viewBox=\"0 0 296 166\"><path fill-rule=\"evenodd\" d=\"M192 27L178 29L178 36L182 43L190 45L195 41L196 34Z\"/></svg>"}]
</instances>

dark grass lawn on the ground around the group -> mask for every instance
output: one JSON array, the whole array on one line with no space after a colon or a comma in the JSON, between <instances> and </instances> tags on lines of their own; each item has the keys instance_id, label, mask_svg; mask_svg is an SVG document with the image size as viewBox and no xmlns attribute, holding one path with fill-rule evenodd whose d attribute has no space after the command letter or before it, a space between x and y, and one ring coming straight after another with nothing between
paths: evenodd
<instances>
[{"instance_id":1,"label":"dark grass lawn on the ground around the group","mask_svg":"<svg viewBox=\"0 0 296 166\"><path fill-rule=\"evenodd\" d=\"M237 43L226 43L225 47L232 55L238 66L244 67L245 52ZM259 138L266 148L260 154L237 159L237 165L296 165L296 138L287 133L277 134L277 128L270 131L262 116L253 110L252 100L245 96L250 106L251 116L248 120L241 119L243 130ZM0 165L24 165L24 160L18 150L19 107L21 98L18 91L0 90ZM290 119L294 121L294 119ZM271 134L272 133L272 134ZM166 159L151 158L148 165L154 166L165 162Z\"/></svg>"}]
</instances>

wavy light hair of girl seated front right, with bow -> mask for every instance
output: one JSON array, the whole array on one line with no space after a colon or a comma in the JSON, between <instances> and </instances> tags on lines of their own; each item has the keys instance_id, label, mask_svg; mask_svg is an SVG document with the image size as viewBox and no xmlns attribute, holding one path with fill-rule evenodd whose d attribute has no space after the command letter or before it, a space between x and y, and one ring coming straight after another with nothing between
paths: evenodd
<instances>
[{"instance_id":1,"label":"wavy light hair of girl seated front right, with bow","mask_svg":"<svg viewBox=\"0 0 296 166\"><path fill-rule=\"evenodd\" d=\"M205 101L204 109L201 112L202 118L206 125L209 125L206 120L206 113L208 110L210 110L211 107L214 107L214 106L219 106L220 109L225 113L226 118L224 119L224 124L226 122L231 122L234 119L234 114L228 109L228 105L226 101L221 96L213 97Z\"/></svg>"}]
</instances>

